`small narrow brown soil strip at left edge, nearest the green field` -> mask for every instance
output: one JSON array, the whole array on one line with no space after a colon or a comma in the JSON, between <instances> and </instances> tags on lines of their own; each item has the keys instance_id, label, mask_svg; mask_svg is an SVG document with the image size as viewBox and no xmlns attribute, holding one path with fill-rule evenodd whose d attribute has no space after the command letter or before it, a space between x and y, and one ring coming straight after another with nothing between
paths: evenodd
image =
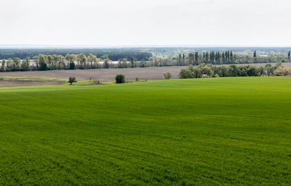
<instances>
[{"instance_id":1,"label":"small narrow brown soil strip at left edge, nearest the green field","mask_svg":"<svg viewBox=\"0 0 291 186\"><path fill-rule=\"evenodd\" d=\"M34 85L62 85L65 81L56 80L0 80L0 87L18 87L18 86L34 86Z\"/></svg>"}]
</instances>

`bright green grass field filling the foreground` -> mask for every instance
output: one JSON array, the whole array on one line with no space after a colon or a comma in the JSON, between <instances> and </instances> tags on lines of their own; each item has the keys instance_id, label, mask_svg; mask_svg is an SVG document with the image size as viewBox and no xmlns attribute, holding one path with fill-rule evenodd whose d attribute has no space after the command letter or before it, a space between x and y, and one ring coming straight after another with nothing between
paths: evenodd
<instances>
[{"instance_id":1,"label":"bright green grass field filling the foreground","mask_svg":"<svg viewBox=\"0 0 291 186\"><path fill-rule=\"evenodd\" d=\"M0 88L0 185L291 185L291 78Z\"/></svg>"}]
</instances>

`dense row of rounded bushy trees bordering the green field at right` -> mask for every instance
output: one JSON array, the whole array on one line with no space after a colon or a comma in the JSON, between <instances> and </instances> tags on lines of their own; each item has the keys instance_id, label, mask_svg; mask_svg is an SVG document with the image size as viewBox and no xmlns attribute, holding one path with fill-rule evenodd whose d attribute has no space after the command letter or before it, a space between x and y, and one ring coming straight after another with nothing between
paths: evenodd
<instances>
[{"instance_id":1,"label":"dense row of rounded bushy trees bordering the green field at right","mask_svg":"<svg viewBox=\"0 0 291 186\"><path fill-rule=\"evenodd\" d=\"M289 76L291 68L283 67L281 62L272 66L267 63L265 66L242 65L220 65L202 63L194 68L191 64L187 68L181 68L179 78L215 78L215 77L255 77L255 76Z\"/></svg>"}]
</instances>

